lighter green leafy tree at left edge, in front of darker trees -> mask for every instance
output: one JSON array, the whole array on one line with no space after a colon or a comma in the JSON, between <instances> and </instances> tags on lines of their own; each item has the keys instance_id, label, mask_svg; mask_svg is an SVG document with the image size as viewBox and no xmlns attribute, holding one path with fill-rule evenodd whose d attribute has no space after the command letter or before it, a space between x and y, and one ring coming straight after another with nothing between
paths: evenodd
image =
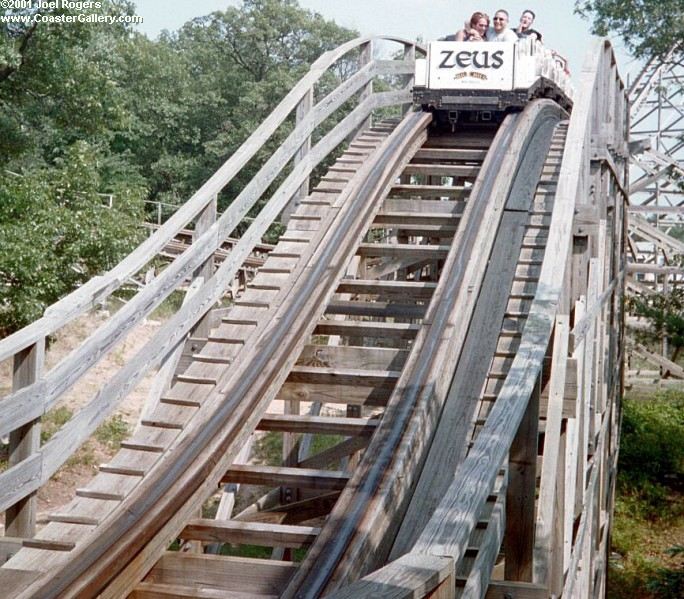
<instances>
[{"instance_id":1,"label":"lighter green leafy tree at left edge, in front of darker trees","mask_svg":"<svg viewBox=\"0 0 684 599\"><path fill-rule=\"evenodd\" d=\"M76 142L50 168L0 177L0 336L116 265L139 240L144 188L114 183L112 207L101 157Z\"/></svg>"}]
</instances>

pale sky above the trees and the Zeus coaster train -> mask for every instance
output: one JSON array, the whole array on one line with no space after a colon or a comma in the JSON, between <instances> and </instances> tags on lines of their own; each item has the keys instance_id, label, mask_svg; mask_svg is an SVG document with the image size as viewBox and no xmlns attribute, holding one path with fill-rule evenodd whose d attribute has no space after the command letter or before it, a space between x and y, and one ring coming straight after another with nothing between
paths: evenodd
<instances>
[{"instance_id":1,"label":"pale sky above the trees and the Zeus coaster train","mask_svg":"<svg viewBox=\"0 0 684 599\"><path fill-rule=\"evenodd\" d=\"M135 0L134 0L135 1ZM237 0L137 0L137 14L145 19L139 29L156 37L163 29L174 30L186 21L237 6ZM456 2L455 0L299 0L300 6L320 13L337 24L356 29L361 35L394 35L424 41L455 33L476 10L493 16L499 8L511 15L511 26L529 8L544 42L570 61L570 70L579 73L590 43L590 23L574 14L574 0L505 2ZM619 40L614 39L618 67L623 79L634 76L639 65L629 58Z\"/></svg>"}]
</instances>

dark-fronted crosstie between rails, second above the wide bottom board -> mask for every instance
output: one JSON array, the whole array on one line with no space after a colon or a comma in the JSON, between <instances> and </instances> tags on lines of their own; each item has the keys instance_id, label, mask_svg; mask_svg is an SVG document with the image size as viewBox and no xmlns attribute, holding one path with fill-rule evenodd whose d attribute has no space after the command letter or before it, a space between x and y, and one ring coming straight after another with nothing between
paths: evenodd
<instances>
[{"instance_id":1,"label":"dark-fronted crosstie between rails, second above the wide bottom board","mask_svg":"<svg viewBox=\"0 0 684 599\"><path fill-rule=\"evenodd\" d=\"M330 470L235 465L223 475L221 482L339 491L344 488L348 480L349 475L345 472L333 472Z\"/></svg>"}]
</instances>

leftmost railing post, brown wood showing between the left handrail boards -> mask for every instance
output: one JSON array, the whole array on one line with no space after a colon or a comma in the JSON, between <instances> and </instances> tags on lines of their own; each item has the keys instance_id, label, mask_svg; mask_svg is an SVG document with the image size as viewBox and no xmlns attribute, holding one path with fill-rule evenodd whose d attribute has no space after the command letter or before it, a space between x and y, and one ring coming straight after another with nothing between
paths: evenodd
<instances>
[{"instance_id":1,"label":"leftmost railing post, brown wood showing between the left handrail boards","mask_svg":"<svg viewBox=\"0 0 684 599\"><path fill-rule=\"evenodd\" d=\"M34 383L43 372L45 339L37 341L14 356L12 390ZM40 419L10 433L10 468L34 454L40 447ZM5 512L5 535L30 538L36 533L36 493L30 494Z\"/></svg>"}]
</instances>

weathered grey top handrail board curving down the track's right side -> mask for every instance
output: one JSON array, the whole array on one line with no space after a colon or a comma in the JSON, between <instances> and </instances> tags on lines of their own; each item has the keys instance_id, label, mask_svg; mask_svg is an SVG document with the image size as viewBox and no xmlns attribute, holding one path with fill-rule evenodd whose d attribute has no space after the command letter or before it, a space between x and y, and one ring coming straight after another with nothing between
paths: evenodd
<instances>
[{"instance_id":1,"label":"weathered grey top handrail board curving down the track's right side","mask_svg":"<svg viewBox=\"0 0 684 599\"><path fill-rule=\"evenodd\" d=\"M590 54L588 54L589 56ZM581 89L591 89L597 78L598 64L587 65L581 77ZM479 506L491 489L498 469L513 440L539 375L545 348L555 319L572 236L572 216L584 168L584 149L590 130L593 93L580 93L566 141L565 160L558 181L557 201L549 230L547 259L542 265L540 287L534 308L516 355L512 372L499 393L487 423L478 435L469 456L456 474L456 483L444 497L433 519L421 535L416 549L462 558L470 532L475 526ZM453 531L452 534L445 531Z\"/></svg>"}]
</instances>

